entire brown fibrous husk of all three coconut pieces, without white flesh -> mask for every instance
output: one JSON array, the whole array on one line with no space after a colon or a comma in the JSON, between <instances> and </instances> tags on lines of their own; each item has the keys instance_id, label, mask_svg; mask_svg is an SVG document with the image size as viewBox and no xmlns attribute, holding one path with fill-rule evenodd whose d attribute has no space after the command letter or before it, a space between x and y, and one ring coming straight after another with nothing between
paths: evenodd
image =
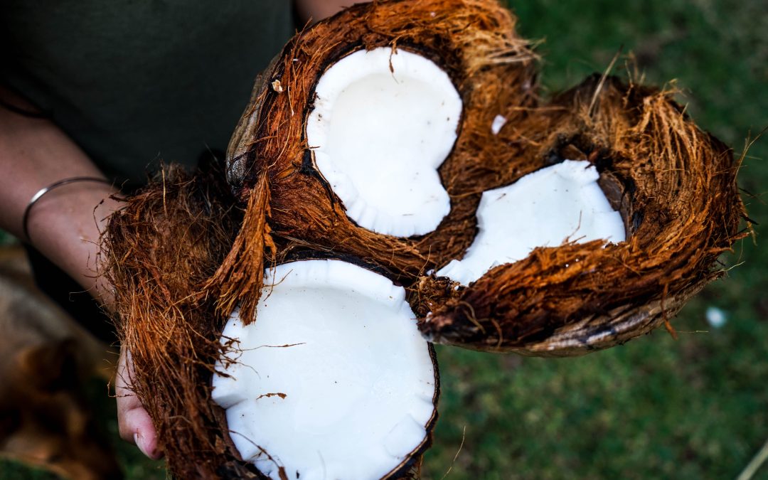
<instances>
[{"instance_id":1,"label":"entire brown fibrous husk of all three coconut pieces, without white flesh","mask_svg":"<svg viewBox=\"0 0 768 480\"><path fill-rule=\"evenodd\" d=\"M464 102L439 169L451 211L422 237L380 235L349 220L303 133L323 71L382 46L431 58ZM717 257L743 236L730 149L687 118L674 91L631 79L598 75L543 99L536 60L494 0L356 5L296 35L264 72L226 171L164 170L113 215L104 265L121 343L172 475L258 475L210 401L210 378L232 348L218 338L227 316L239 305L245 322L257 319L265 266L300 257L364 263L406 286L429 339L536 356L588 353L647 333L722 275ZM507 123L494 135L497 114ZM427 274L472 243L483 191L564 159L598 168L626 242L539 248L467 287Z\"/></svg>"}]
</instances>

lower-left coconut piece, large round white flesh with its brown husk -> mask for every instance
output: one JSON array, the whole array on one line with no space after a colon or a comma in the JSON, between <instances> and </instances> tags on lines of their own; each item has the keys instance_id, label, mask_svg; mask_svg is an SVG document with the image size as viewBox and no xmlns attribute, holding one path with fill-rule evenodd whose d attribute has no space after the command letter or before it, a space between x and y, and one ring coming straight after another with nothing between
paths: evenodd
<instances>
[{"instance_id":1,"label":"lower-left coconut piece, large round white flesh with its brown husk","mask_svg":"<svg viewBox=\"0 0 768 480\"><path fill-rule=\"evenodd\" d=\"M266 271L260 322L222 318L210 300L227 288L211 280L231 270L237 223L255 221L233 204L223 171L170 167L103 240L132 388L170 473L418 478L439 377L405 289L340 260L296 261Z\"/></svg>"}]
</instances>

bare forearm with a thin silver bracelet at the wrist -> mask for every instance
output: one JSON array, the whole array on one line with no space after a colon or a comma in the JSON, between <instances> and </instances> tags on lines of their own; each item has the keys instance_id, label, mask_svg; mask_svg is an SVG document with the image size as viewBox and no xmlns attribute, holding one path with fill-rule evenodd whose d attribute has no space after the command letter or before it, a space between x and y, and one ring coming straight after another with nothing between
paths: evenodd
<instances>
[{"instance_id":1,"label":"bare forearm with a thin silver bracelet at the wrist","mask_svg":"<svg viewBox=\"0 0 768 480\"><path fill-rule=\"evenodd\" d=\"M6 103L31 109L7 91ZM51 190L32 207L29 239L22 217L41 188L68 177L104 177L53 122L0 108L0 228L29 241L94 296L98 237L118 206L108 184L75 183Z\"/></svg>"}]
</instances>

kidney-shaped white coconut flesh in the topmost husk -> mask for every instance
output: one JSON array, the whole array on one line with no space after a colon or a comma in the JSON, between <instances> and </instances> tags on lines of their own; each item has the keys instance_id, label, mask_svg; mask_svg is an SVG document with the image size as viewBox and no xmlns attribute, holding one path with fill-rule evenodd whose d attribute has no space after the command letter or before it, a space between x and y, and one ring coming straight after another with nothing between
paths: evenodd
<instances>
[{"instance_id":1,"label":"kidney-shaped white coconut flesh in the topmost husk","mask_svg":"<svg viewBox=\"0 0 768 480\"><path fill-rule=\"evenodd\" d=\"M306 140L346 214L376 233L429 233L450 210L437 169L456 140L462 100L431 60L356 51L316 84Z\"/></svg>"}]
</instances>

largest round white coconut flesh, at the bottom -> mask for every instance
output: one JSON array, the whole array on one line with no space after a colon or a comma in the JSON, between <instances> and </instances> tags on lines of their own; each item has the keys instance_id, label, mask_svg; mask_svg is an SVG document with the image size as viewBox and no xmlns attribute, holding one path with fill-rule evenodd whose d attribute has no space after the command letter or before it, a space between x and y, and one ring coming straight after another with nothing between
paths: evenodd
<instances>
[{"instance_id":1,"label":"largest round white coconut flesh, at the bottom","mask_svg":"<svg viewBox=\"0 0 768 480\"><path fill-rule=\"evenodd\" d=\"M435 366L405 290L339 260L267 271L256 322L233 314L214 375L243 459L271 478L382 478L427 439ZM226 375L226 376L225 376Z\"/></svg>"}]
</instances>

